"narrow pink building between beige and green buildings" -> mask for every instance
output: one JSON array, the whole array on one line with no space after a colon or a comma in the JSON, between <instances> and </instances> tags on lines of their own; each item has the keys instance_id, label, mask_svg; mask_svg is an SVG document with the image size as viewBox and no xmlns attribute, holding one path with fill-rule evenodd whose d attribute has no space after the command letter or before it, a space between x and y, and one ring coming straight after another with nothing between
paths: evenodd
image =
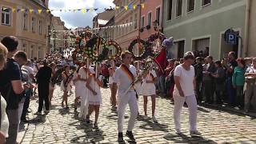
<instances>
[{"instance_id":1,"label":"narrow pink building between beige and green buildings","mask_svg":"<svg viewBox=\"0 0 256 144\"><path fill-rule=\"evenodd\" d=\"M162 0L144 0L145 8L142 9L140 37L147 39L151 34L157 33L154 30L155 20L158 21L158 29L162 28ZM157 29L157 30L158 30Z\"/></svg>"}]
</instances>

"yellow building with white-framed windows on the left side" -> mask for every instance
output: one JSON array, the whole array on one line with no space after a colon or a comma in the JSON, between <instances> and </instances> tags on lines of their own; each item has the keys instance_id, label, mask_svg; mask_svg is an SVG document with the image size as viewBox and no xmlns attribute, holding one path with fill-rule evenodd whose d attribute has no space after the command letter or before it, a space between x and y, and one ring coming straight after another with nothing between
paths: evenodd
<instances>
[{"instance_id":1,"label":"yellow building with white-framed windows on the left side","mask_svg":"<svg viewBox=\"0 0 256 144\"><path fill-rule=\"evenodd\" d=\"M47 6L48 0L0 0L0 39L13 35L18 38L18 50L26 51L28 58L44 58L49 52Z\"/></svg>"}]
</instances>

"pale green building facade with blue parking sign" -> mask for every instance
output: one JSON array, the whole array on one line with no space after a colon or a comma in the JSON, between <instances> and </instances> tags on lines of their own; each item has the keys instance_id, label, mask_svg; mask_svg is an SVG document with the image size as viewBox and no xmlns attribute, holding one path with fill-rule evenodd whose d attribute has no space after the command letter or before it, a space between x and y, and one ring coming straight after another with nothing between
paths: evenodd
<instances>
[{"instance_id":1,"label":"pale green building facade with blue parking sign","mask_svg":"<svg viewBox=\"0 0 256 144\"><path fill-rule=\"evenodd\" d=\"M246 38L248 0L164 0L163 2L163 30L166 37L174 37L175 45L171 49L174 58L181 58L188 50L198 50L202 53L209 51L215 59L225 57L231 50L235 51L238 57L246 56L245 46L248 47L246 39L255 36L248 34ZM252 4L251 2L250 5ZM251 15L250 17L249 19L252 20L253 17ZM250 25L255 24L248 22ZM226 44L224 41L224 33L230 28L240 36L236 45ZM252 45L254 43L249 46Z\"/></svg>"}]
</instances>

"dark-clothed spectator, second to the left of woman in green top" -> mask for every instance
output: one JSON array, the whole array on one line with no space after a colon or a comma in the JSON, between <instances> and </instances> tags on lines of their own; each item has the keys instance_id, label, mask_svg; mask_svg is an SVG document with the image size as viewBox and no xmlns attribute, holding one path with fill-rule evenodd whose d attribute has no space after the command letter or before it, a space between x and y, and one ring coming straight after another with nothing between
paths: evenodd
<instances>
[{"instance_id":1,"label":"dark-clothed spectator, second to the left of woman in green top","mask_svg":"<svg viewBox=\"0 0 256 144\"><path fill-rule=\"evenodd\" d=\"M216 67L216 72L211 75L214 77L217 104L222 104L222 101L224 100L223 94L225 90L225 70L222 67L221 61L215 61L214 65Z\"/></svg>"}]
</instances>

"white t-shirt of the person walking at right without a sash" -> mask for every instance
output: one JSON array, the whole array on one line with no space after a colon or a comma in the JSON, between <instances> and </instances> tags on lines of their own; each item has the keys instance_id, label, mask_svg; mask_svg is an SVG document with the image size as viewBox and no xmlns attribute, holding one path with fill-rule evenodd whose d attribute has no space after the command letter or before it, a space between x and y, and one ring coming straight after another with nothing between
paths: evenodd
<instances>
[{"instance_id":1,"label":"white t-shirt of the person walking at right without a sash","mask_svg":"<svg viewBox=\"0 0 256 144\"><path fill-rule=\"evenodd\" d=\"M176 66L174 76L179 77L179 83L185 96L194 95L194 66L190 66L190 70L185 70L182 65ZM179 94L176 86L174 94Z\"/></svg>"}]
</instances>

